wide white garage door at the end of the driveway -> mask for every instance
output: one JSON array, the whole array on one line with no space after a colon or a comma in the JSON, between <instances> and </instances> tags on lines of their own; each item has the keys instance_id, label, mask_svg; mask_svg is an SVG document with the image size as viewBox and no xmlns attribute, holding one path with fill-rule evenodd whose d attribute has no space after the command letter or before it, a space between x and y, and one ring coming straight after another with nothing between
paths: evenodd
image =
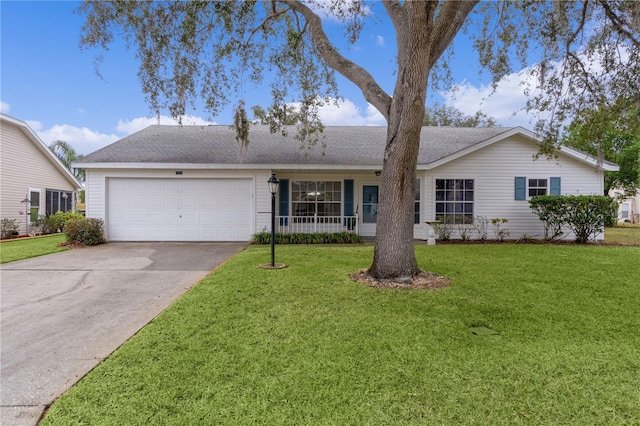
<instances>
[{"instance_id":1,"label":"wide white garage door at the end of the driveway","mask_svg":"<svg viewBox=\"0 0 640 426\"><path fill-rule=\"evenodd\" d=\"M248 241L251 179L118 179L108 182L111 241Z\"/></svg>"}]
</instances>

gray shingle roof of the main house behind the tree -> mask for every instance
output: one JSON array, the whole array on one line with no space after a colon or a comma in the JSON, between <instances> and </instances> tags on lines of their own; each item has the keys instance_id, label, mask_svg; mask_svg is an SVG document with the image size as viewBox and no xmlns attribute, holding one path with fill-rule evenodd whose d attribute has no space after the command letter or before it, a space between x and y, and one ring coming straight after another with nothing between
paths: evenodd
<instances>
[{"instance_id":1,"label":"gray shingle roof of the main house behind the tree","mask_svg":"<svg viewBox=\"0 0 640 426\"><path fill-rule=\"evenodd\" d=\"M283 137L271 134L267 126L252 126L249 148L240 161L230 126L154 125L85 156L79 163L381 165L386 130L325 127L322 142L301 148L295 127ZM508 130L511 128L423 127L418 164L448 157Z\"/></svg>"}]
</instances>

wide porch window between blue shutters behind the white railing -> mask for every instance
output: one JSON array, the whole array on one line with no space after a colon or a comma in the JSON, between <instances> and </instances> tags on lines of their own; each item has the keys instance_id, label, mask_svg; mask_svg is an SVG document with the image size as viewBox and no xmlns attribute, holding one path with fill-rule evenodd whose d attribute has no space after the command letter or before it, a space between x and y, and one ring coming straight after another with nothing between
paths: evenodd
<instances>
[{"instance_id":1,"label":"wide porch window between blue shutters behind the white railing","mask_svg":"<svg viewBox=\"0 0 640 426\"><path fill-rule=\"evenodd\" d=\"M340 216L342 182L293 181L291 211L293 216Z\"/></svg>"}]
</instances>

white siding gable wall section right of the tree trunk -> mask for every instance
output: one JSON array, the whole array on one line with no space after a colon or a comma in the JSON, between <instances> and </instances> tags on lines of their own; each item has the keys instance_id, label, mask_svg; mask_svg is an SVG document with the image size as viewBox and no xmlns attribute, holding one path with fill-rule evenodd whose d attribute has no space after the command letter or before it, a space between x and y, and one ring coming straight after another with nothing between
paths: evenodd
<instances>
[{"instance_id":1,"label":"white siding gable wall section right of the tree trunk","mask_svg":"<svg viewBox=\"0 0 640 426\"><path fill-rule=\"evenodd\" d=\"M534 160L537 152L535 144L516 136L425 172L427 220L435 219L435 179L474 179L474 217L509 219L503 227L511 231L511 239L524 235L544 237L542 222L529 208L529 202L515 200L516 176L561 177L562 195L602 194L601 171L563 154L557 160L544 156ZM489 238L495 238L491 228Z\"/></svg>"}]
</instances>

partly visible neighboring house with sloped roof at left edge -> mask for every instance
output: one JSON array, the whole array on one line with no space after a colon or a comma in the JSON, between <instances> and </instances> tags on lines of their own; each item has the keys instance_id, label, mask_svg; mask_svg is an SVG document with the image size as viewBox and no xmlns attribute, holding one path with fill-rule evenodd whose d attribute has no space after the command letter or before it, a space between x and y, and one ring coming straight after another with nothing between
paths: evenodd
<instances>
[{"instance_id":1,"label":"partly visible neighboring house with sloped roof at left edge","mask_svg":"<svg viewBox=\"0 0 640 426\"><path fill-rule=\"evenodd\" d=\"M73 210L80 182L24 122L0 114L0 218L21 235L40 216Z\"/></svg>"}]
</instances>

